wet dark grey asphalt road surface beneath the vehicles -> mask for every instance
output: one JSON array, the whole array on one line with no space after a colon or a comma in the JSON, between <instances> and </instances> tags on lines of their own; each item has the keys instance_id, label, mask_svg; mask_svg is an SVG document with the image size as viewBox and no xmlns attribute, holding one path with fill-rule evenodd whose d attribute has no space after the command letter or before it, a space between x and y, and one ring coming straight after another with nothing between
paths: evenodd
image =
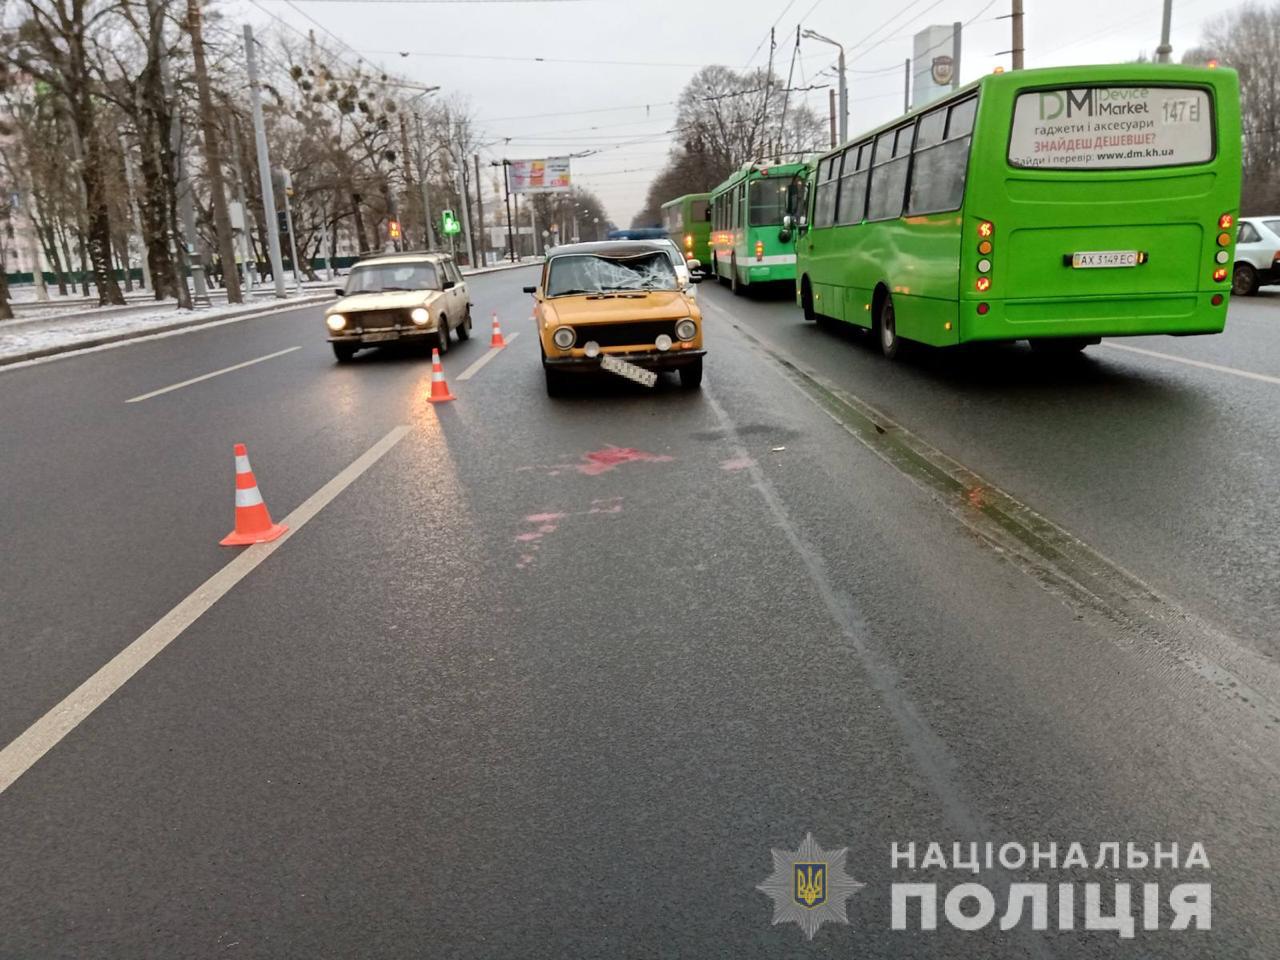
<instances>
[{"instance_id":1,"label":"wet dark grey asphalt road surface beneath the vehicles","mask_svg":"<svg viewBox=\"0 0 1280 960\"><path fill-rule=\"evenodd\" d=\"M888 364L704 285L700 393L553 402L531 275L470 280L439 407L420 356L335 365L316 307L0 372L0 744L225 586L0 792L0 957L1280 955L1280 384ZM520 335L462 380L494 310ZM1275 376L1272 316L1128 346ZM237 442L298 522L227 586ZM809 832L867 884L812 942L755 888ZM1211 881L1213 925L891 929L891 883L974 881Z\"/></svg>"}]
</instances>

